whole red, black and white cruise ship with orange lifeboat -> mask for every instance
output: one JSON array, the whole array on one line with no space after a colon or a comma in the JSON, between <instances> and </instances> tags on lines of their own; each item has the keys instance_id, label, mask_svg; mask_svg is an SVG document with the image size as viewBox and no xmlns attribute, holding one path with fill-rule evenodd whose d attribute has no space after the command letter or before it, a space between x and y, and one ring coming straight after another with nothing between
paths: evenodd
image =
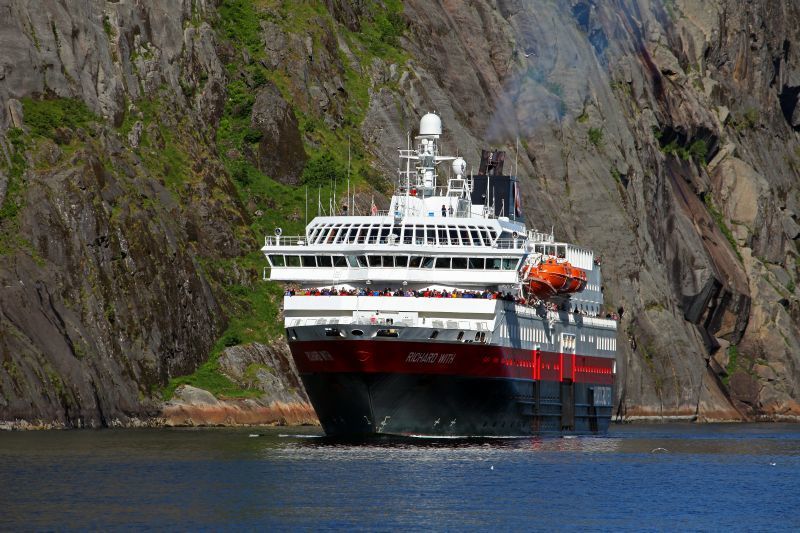
<instances>
[{"instance_id":1,"label":"whole red, black and white cruise ship with orange lifeboat","mask_svg":"<svg viewBox=\"0 0 800 533\"><path fill-rule=\"evenodd\" d=\"M477 172L422 117L388 212L342 207L265 237L292 356L329 436L608 429L616 317L592 251L526 227L505 154ZM346 203L350 202L348 198Z\"/></svg>"}]
</instances>

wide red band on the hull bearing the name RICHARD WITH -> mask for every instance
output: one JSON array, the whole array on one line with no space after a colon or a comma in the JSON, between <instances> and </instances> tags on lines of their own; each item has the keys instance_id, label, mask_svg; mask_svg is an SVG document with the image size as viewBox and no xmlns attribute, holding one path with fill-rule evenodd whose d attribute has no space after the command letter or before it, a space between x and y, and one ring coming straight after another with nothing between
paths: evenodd
<instances>
[{"instance_id":1,"label":"wide red band on the hull bearing the name RICHARD WITH","mask_svg":"<svg viewBox=\"0 0 800 533\"><path fill-rule=\"evenodd\" d=\"M365 372L444 374L575 383L614 383L614 360L484 344L380 340L295 341L303 374Z\"/></svg>"}]
</instances>

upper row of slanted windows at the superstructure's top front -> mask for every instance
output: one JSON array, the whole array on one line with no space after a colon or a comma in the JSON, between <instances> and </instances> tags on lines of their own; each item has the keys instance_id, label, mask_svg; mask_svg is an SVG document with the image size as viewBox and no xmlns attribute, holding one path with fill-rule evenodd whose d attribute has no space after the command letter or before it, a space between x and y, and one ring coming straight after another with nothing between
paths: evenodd
<instances>
[{"instance_id":1,"label":"upper row of slanted windows at the superstructure's top front","mask_svg":"<svg viewBox=\"0 0 800 533\"><path fill-rule=\"evenodd\" d=\"M438 246L491 246L496 231L486 226L376 226L330 224L312 227L310 244L433 244Z\"/></svg>"}]
</instances>

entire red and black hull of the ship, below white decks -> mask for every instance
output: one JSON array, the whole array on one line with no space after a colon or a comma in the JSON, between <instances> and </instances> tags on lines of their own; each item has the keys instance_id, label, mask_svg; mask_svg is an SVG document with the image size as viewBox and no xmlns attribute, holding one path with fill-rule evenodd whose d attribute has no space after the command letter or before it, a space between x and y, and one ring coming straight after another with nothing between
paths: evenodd
<instances>
[{"instance_id":1,"label":"entire red and black hull of the ship, below white decks","mask_svg":"<svg viewBox=\"0 0 800 533\"><path fill-rule=\"evenodd\" d=\"M607 431L611 420L613 375L588 366L608 361L488 345L332 340L290 346L332 437L593 434Z\"/></svg>"}]
</instances>

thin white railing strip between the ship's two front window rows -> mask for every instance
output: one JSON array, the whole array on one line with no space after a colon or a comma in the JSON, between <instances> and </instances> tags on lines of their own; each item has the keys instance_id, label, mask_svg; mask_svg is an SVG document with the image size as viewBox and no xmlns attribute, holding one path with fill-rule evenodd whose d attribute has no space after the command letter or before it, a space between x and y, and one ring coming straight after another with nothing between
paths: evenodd
<instances>
[{"instance_id":1,"label":"thin white railing strip between the ship's two front window rows","mask_svg":"<svg viewBox=\"0 0 800 533\"><path fill-rule=\"evenodd\" d=\"M516 238L516 239L495 239L491 241L489 239L475 239L472 242L463 242L463 241L442 241L439 239L428 239L425 237L412 237L410 235L404 235L399 237L394 234L390 235L381 235L376 237L357 237L357 236L328 236L324 239L319 239L317 241L310 241L306 235L288 235L288 236L265 236L264 237L264 246L268 248L272 247L284 247L284 246L339 246L339 245L367 245L367 246L379 246L379 245L415 245L415 246L459 246L464 248L482 248L482 249L491 249L496 248L499 250L524 250L525 249L525 239L523 237Z\"/></svg>"}]
</instances>

